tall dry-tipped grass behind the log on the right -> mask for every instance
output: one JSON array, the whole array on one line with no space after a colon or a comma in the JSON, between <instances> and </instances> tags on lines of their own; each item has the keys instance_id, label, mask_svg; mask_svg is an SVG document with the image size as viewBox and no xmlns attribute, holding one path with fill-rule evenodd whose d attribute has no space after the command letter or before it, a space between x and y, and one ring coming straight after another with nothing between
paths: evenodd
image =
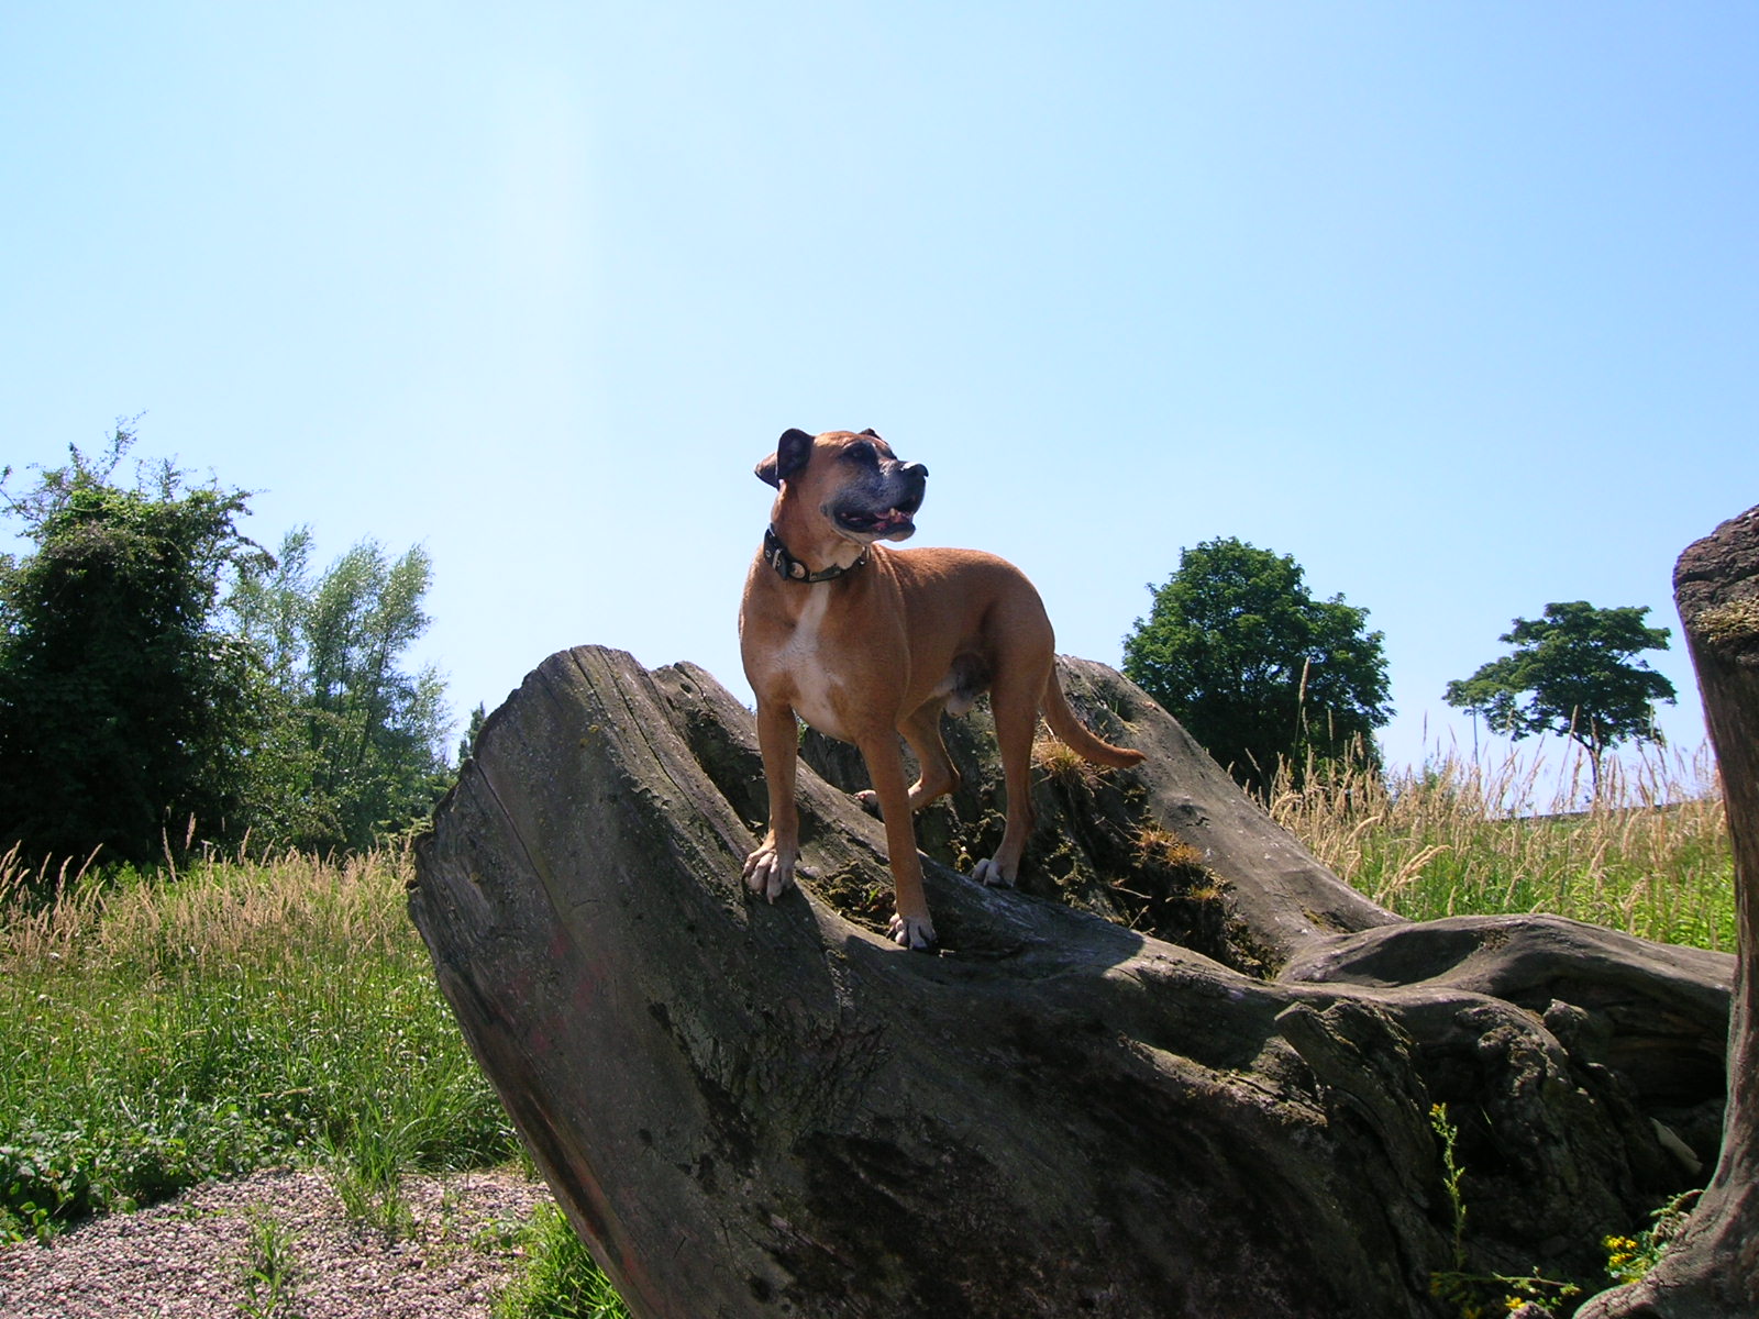
<instances>
[{"instance_id":1,"label":"tall dry-tipped grass behind the log on the right","mask_svg":"<svg viewBox=\"0 0 1759 1319\"><path fill-rule=\"evenodd\" d=\"M1272 816L1339 876L1412 920L1548 911L1664 943L1734 950L1734 860L1708 749L1581 762L1446 754L1379 774L1277 777Z\"/></svg>"}]
</instances>

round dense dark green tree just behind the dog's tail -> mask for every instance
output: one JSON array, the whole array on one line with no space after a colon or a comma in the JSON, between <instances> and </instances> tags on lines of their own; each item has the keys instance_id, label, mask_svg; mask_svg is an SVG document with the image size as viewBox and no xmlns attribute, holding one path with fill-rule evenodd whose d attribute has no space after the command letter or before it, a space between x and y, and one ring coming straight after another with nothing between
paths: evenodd
<instances>
[{"instance_id":1,"label":"round dense dark green tree just behind the dog's tail","mask_svg":"<svg viewBox=\"0 0 1759 1319\"><path fill-rule=\"evenodd\" d=\"M1344 596L1314 600L1298 563L1235 536L1182 550L1124 638L1124 672L1245 786L1281 762L1377 763L1388 702L1383 635Z\"/></svg>"}]
</instances>

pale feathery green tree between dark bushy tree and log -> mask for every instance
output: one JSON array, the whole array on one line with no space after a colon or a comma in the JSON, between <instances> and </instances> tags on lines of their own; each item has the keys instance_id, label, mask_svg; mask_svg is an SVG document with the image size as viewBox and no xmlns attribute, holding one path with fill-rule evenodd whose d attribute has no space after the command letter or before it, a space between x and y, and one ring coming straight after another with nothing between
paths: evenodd
<instances>
[{"instance_id":1,"label":"pale feathery green tree between dark bushy tree and log","mask_svg":"<svg viewBox=\"0 0 1759 1319\"><path fill-rule=\"evenodd\" d=\"M429 624L433 568L420 547L390 561L373 540L318 577L310 559L310 528L288 533L273 568L239 573L230 605L274 693L266 762L292 791L273 827L308 848L364 848L447 783L445 682L401 667Z\"/></svg>"}]
</instances>

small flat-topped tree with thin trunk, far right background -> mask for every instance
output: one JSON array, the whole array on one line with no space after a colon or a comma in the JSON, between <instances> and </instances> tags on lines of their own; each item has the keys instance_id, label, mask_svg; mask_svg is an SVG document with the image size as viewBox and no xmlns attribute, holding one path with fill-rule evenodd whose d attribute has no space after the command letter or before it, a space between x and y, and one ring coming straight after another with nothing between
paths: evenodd
<instances>
[{"instance_id":1,"label":"small flat-topped tree with thin trunk, far right background","mask_svg":"<svg viewBox=\"0 0 1759 1319\"><path fill-rule=\"evenodd\" d=\"M1483 714L1492 732L1516 742L1529 733L1574 739L1588 753L1599 795L1601 753L1624 740L1660 742L1655 703L1675 702L1673 682L1636 658L1668 649L1668 628L1645 626L1645 614L1646 605L1546 605L1544 617L1514 619L1499 637L1514 654L1455 679L1442 700Z\"/></svg>"}]
</instances>

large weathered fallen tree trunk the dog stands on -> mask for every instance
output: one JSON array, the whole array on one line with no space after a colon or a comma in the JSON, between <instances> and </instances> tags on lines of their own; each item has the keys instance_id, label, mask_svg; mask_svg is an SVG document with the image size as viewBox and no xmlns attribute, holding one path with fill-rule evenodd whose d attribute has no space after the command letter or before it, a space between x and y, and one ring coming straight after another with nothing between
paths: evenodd
<instances>
[{"instance_id":1,"label":"large weathered fallen tree trunk the dog stands on","mask_svg":"<svg viewBox=\"0 0 1759 1319\"><path fill-rule=\"evenodd\" d=\"M1149 760L1045 754L1025 892L985 890L941 862L985 855L994 756L950 739L939 957L885 939L880 825L807 767L804 888L746 897L751 716L695 667L563 652L478 733L412 915L633 1314L1439 1315L1437 1273L1590 1280L1692 1184L1733 958L1400 922L1140 689L1061 672Z\"/></svg>"}]
</instances>

